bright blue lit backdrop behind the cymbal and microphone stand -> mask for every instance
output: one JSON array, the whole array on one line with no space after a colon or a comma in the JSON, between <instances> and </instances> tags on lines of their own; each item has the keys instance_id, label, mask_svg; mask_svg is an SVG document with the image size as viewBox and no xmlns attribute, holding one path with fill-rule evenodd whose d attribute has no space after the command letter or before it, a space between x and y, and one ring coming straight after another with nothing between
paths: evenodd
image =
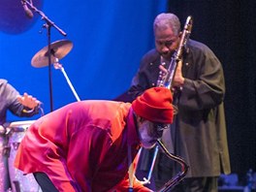
<instances>
[{"instance_id":1,"label":"bright blue lit backdrop behind the cymbal and microphone stand","mask_svg":"<svg viewBox=\"0 0 256 192\"><path fill-rule=\"evenodd\" d=\"M24 16L19 0L0 0L0 78L28 92L50 112L48 67L32 57L48 44L45 21ZM51 28L51 42L67 39L73 49L60 63L81 100L112 100L130 85L143 54L154 47L152 23L167 1L85 0L32 2L68 35ZM77 101L60 70L51 67L53 110ZM33 118L37 118L35 116ZM20 120L11 113L9 121Z\"/></svg>"}]
</instances>

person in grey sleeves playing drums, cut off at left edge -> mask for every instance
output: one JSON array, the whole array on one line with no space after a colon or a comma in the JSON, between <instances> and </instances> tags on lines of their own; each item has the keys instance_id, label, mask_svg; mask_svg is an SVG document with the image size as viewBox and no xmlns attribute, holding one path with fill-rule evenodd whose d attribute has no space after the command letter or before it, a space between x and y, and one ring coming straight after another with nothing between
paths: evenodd
<instances>
[{"instance_id":1,"label":"person in grey sleeves playing drums, cut off at left edge","mask_svg":"<svg viewBox=\"0 0 256 192\"><path fill-rule=\"evenodd\" d=\"M9 186L7 157L4 154L5 147L5 123L7 111L13 112L16 116L33 116L39 112L40 102L24 93L20 96L7 80L0 79L0 192L7 191ZM13 166L13 165L10 165Z\"/></svg>"}]
</instances>

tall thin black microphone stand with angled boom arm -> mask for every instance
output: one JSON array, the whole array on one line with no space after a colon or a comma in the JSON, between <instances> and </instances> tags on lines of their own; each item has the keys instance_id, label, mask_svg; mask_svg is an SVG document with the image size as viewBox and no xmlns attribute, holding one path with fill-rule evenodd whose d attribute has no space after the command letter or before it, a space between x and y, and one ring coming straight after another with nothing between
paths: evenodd
<instances>
[{"instance_id":1,"label":"tall thin black microphone stand with angled boom arm","mask_svg":"<svg viewBox=\"0 0 256 192\"><path fill-rule=\"evenodd\" d=\"M43 27L47 28L48 31L48 83L49 83L49 100L50 100L50 112L53 111L53 101L52 101L52 78L51 78L51 60L50 60L50 29L51 27L54 27L55 29L57 29L57 31L63 35L63 36L67 36L67 34L60 29L53 21L51 21L48 16L46 16L42 11L38 10L32 3L32 0L30 0L30 2L28 2L27 0L23 0L27 5L29 5L29 7L35 12L38 13L40 16L42 16L42 20L45 20L46 23L43 25Z\"/></svg>"}]
</instances>

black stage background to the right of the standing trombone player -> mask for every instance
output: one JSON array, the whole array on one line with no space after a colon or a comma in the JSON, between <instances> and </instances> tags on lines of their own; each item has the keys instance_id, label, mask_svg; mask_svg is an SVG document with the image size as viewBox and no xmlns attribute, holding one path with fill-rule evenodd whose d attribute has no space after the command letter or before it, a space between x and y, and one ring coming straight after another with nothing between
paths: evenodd
<instances>
[{"instance_id":1,"label":"black stage background to the right of the standing trombone player","mask_svg":"<svg viewBox=\"0 0 256 192\"><path fill-rule=\"evenodd\" d=\"M256 3L253 0L169 1L181 23L193 16L191 38L208 45L223 64L232 172L256 169Z\"/></svg>"}]
</instances>

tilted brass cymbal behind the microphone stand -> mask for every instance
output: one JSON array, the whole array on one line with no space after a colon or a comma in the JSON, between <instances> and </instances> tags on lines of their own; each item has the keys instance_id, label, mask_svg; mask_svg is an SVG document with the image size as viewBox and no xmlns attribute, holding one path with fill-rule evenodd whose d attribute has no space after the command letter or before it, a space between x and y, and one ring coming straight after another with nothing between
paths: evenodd
<instances>
[{"instance_id":1,"label":"tilted brass cymbal behind the microphone stand","mask_svg":"<svg viewBox=\"0 0 256 192\"><path fill-rule=\"evenodd\" d=\"M54 63L55 59L62 59L73 48L73 43L69 40L59 40L50 44L50 64ZM31 59L33 67L48 66L48 46L39 50Z\"/></svg>"}]
</instances>

